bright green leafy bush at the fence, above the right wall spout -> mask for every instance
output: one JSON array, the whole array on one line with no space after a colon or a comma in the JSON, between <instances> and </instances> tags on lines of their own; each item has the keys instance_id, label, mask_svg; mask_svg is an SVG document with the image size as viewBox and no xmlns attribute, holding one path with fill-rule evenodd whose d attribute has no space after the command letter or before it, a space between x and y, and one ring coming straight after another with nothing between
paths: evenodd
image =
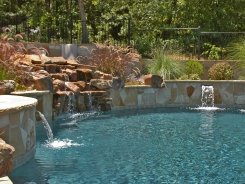
<instances>
[{"instance_id":1,"label":"bright green leafy bush at the fence, above the right wall spout","mask_svg":"<svg viewBox=\"0 0 245 184\"><path fill-rule=\"evenodd\" d=\"M217 47L210 43L204 43L202 55L206 56L209 60L219 60L221 59L222 53L225 52L224 48Z\"/></svg>"}]
</instances>

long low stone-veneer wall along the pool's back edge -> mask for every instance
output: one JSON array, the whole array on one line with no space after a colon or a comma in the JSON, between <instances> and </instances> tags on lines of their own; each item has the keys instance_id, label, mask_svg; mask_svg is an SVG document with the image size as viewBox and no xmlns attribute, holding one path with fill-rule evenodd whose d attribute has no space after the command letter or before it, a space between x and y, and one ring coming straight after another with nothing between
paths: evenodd
<instances>
[{"instance_id":1,"label":"long low stone-veneer wall along the pool's back edge","mask_svg":"<svg viewBox=\"0 0 245 184\"><path fill-rule=\"evenodd\" d=\"M214 87L215 106L245 107L245 81L165 81L163 88L126 86L111 90L112 108L183 107L201 105L202 85Z\"/></svg>"}]
</instances>

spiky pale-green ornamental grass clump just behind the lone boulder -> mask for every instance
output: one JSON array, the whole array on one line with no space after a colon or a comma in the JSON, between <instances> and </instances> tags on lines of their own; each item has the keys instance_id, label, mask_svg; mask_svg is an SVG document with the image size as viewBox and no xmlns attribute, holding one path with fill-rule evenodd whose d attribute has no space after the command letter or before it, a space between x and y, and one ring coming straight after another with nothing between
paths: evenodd
<instances>
[{"instance_id":1,"label":"spiky pale-green ornamental grass clump just behind the lone boulder","mask_svg":"<svg viewBox=\"0 0 245 184\"><path fill-rule=\"evenodd\" d=\"M153 53L153 62L149 65L149 72L163 77L176 79L181 73L181 65L170 57L166 47L158 48Z\"/></svg>"}]
</instances>

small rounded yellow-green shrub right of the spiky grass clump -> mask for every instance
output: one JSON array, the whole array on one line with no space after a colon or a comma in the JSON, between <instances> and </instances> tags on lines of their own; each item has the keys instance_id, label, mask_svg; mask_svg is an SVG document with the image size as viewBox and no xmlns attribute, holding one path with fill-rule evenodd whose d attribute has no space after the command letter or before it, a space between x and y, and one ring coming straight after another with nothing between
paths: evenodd
<instances>
[{"instance_id":1,"label":"small rounded yellow-green shrub right of the spiky grass clump","mask_svg":"<svg viewBox=\"0 0 245 184\"><path fill-rule=\"evenodd\" d=\"M185 74L191 76L196 74L199 78L203 74L203 65L198 61L187 61L185 64Z\"/></svg>"}]
</instances>

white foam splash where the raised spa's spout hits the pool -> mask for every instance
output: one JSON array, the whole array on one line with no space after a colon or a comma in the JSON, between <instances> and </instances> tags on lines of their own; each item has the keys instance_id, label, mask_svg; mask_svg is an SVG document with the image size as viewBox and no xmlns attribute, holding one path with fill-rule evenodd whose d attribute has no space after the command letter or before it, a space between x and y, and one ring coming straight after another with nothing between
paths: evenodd
<instances>
[{"instance_id":1,"label":"white foam splash where the raised spa's spout hits the pool","mask_svg":"<svg viewBox=\"0 0 245 184\"><path fill-rule=\"evenodd\" d=\"M72 146L83 146L84 144L78 144L75 142L72 142L72 140L69 139L63 139L63 140L59 140L59 139L54 139L51 142L47 142L47 147L49 148L53 148L53 149L63 149L63 148L69 148Z\"/></svg>"}]
</instances>

